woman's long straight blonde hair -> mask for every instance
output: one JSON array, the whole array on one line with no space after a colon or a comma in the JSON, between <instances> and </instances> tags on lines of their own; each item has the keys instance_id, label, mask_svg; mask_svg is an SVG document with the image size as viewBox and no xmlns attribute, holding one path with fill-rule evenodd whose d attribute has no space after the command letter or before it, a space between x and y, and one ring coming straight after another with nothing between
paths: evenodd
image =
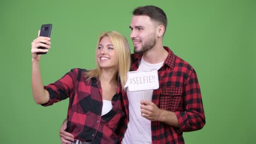
<instances>
[{"instance_id":1,"label":"woman's long straight blonde hair","mask_svg":"<svg viewBox=\"0 0 256 144\"><path fill-rule=\"evenodd\" d=\"M97 46L104 37L108 37L113 43L114 51L118 57L118 79L120 79L121 86L124 89L127 80L127 73L129 72L131 66L131 51L129 43L124 35L120 34L119 32L110 31L100 34L98 37ZM88 77L88 80L92 79L93 77L101 76L101 68L98 65L98 62L96 63L96 68L86 72L85 76Z\"/></svg>"}]
</instances>

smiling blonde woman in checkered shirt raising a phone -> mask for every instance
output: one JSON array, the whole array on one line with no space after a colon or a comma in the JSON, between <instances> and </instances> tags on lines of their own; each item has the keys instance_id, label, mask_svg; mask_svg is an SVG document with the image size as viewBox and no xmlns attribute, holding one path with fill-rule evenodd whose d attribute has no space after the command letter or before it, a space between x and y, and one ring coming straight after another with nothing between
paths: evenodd
<instances>
[{"instance_id":1,"label":"smiling blonde woman in checkered shirt raising a phone","mask_svg":"<svg viewBox=\"0 0 256 144\"><path fill-rule=\"evenodd\" d=\"M32 93L36 104L53 105L69 98L67 112L68 133L73 143L119 143L120 121L127 121L122 100L123 87L130 69L130 47L126 38L118 32L104 32L98 38L96 68L75 68L60 80L43 86L39 61L50 49L50 38L33 40ZM45 43L45 44L44 44ZM38 49L43 46L48 49Z\"/></svg>"}]
</instances>

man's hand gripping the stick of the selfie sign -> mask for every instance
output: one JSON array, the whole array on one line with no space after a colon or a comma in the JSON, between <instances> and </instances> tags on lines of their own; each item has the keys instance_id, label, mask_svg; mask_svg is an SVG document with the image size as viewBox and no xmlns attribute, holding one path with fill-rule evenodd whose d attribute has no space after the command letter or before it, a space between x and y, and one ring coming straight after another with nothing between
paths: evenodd
<instances>
[{"instance_id":1,"label":"man's hand gripping the stick of the selfie sign","mask_svg":"<svg viewBox=\"0 0 256 144\"><path fill-rule=\"evenodd\" d=\"M147 118L149 121L159 121L161 110L152 101L141 100L141 116Z\"/></svg>"}]
</instances>

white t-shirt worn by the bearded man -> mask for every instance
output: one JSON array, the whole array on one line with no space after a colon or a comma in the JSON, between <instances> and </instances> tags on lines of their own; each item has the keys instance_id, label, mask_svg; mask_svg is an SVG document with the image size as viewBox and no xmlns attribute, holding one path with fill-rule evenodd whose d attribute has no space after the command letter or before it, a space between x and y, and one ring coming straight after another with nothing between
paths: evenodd
<instances>
[{"instance_id":1,"label":"white t-shirt worn by the bearded man","mask_svg":"<svg viewBox=\"0 0 256 144\"><path fill-rule=\"evenodd\" d=\"M141 59L138 70L157 69L162 67L164 62L158 64L150 64ZM144 144L152 143L151 139L151 121L141 116L141 103L143 99L152 100L153 90L129 92L127 90L127 98L129 101L129 123L122 141L123 144Z\"/></svg>"}]
</instances>

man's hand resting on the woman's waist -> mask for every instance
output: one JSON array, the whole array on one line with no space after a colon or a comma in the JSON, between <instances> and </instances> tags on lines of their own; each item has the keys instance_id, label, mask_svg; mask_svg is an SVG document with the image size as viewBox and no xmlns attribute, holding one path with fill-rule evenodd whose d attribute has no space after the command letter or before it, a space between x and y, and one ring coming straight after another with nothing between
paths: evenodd
<instances>
[{"instance_id":1,"label":"man's hand resting on the woman's waist","mask_svg":"<svg viewBox=\"0 0 256 144\"><path fill-rule=\"evenodd\" d=\"M62 123L60 128L60 138L62 144L71 144L74 141L74 136L66 131L67 129L67 119Z\"/></svg>"}]
</instances>

